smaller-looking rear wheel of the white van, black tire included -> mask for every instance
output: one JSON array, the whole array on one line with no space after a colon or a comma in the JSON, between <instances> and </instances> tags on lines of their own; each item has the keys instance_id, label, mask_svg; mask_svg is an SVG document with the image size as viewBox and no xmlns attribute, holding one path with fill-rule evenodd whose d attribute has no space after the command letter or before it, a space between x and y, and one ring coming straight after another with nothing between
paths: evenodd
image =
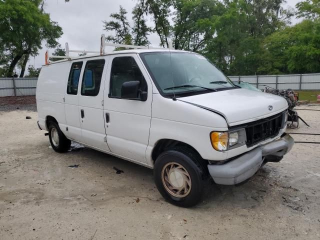
<instances>
[{"instance_id":1,"label":"smaller-looking rear wheel of the white van, black tire included","mask_svg":"<svg viewBox=\"0 0 320 240\"><path fill-rule=\"evenodd\" d=\"M71 141L65 137L63 132L60 130L59 125L56 122L49 123L49 141L52 149L56 152L66 152L71 145ZM52 133L57 133L58 139L53 139Z\"/></svg>"}]
</instances>

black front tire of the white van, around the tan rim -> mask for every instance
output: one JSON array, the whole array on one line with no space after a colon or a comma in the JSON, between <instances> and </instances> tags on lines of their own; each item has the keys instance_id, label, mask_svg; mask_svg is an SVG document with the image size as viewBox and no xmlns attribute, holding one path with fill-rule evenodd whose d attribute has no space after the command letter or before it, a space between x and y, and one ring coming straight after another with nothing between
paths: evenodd
<instances>
[{"instance_id":1,"label":"black front tire of the white van, around the tan rim","mask_svg":"<svg viewBox=\"0 0 320 240\"><path fill-rule=\"evenodd\" d=\"M183 190L182 196L179 197L172 195L172 192L167 190L169 189L168 184L170 183L164 180L165 176L162 176L166 174L165 169L170 167L168 164L172 164L172 162L177 163L176 166L181 165L184 168L183 170L186 170L189 175L187 179L190 178L191 181L191 187L190 190L187 191L188 193ZM155 185L160 194L170 203L181 207L194 206L201 200L203 189L208 183L208 175L205 167L206 165L203 159L190 148L174 147L167 149L155 160L153 169ZM168 178L169 177L166 177L166 179ZM177 191L174 193L176 192ZM183 193L187 195L183 195Z\"/></svg>"}]
</instances>

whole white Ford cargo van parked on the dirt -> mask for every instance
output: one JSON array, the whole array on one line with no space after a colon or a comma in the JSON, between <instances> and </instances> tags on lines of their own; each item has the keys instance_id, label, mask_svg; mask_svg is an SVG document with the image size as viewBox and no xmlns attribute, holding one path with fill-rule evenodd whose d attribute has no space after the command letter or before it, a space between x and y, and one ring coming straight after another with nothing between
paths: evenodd
<instances>
[{"instance_id":1,"label":"whole white Ford cargo van parked on the dirt","mask_svg":"<svg viewBox=\"0 0 320 240\"><path fill-rule=\"evenodd\" d=\"M120 50L46 64L36 104L55 151L72 140L153 168L162 196L185 207L209 179L240 183L293 145L284 98L240 88L187 51Z\"/></svg>"}]
</instances>

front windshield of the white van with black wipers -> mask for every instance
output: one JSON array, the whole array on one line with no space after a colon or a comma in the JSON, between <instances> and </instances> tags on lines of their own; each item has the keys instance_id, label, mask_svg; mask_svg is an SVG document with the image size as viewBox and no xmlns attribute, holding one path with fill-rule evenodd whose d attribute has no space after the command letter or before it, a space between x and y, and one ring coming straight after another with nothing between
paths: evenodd
<instances>
[{"instance_id":1,"label":"front windshield of the white van with black wipers","mask_svg":"<svg viewBox=\"0 0 320 240\"><path fill-rule=\"evenodd\" d=\"M235 87L202 55L188 52L147 52L140 55L164 95L199 94Z\"/></svg>"}]
</instances>

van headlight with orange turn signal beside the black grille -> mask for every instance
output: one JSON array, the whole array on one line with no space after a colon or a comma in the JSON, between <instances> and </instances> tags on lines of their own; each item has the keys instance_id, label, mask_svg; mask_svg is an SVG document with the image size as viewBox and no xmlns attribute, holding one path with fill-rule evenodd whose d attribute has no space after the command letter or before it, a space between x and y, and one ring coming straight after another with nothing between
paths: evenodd
<instances>
[{"instance_id":1,"label":"van headlight with orange turn signal beside the black grille","mask_svg":"<svg viewBox=\"0 0 320 240\"><path fill-rule=\"evenodd\" d=\"M238 143L239 134L237 131L219 132L212 131L210 133L210 140L213 148L217 151L226 151L228 146L233 146Z\"/></svg>"}]
</instances>

